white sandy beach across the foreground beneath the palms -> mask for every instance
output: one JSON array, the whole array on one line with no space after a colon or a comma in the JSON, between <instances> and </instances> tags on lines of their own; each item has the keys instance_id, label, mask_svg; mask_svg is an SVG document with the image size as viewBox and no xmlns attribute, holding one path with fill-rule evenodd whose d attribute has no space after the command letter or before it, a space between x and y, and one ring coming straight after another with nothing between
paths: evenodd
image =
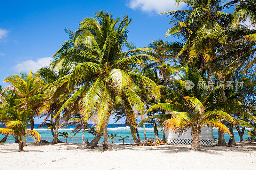
<instances>
[{"instance_id":1,"label":"white sandy beach across the foreground beneath the palms","mask_svg":"<svg viewBox=\"0 0 256 170\"><path fill-rule=\"evenodd\" d=\"M115 151L102 151L101 144L0 144L0 169L256 169L256 143L233 147L190 145L132 146L111 144Z\"/></svg>"}]
</instances>

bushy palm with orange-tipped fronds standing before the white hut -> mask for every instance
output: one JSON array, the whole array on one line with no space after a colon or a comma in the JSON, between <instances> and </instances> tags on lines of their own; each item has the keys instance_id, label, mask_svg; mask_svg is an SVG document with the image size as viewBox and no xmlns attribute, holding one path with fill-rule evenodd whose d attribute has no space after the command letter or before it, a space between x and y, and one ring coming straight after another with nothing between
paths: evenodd
<instances>
[{"instance_id":1,"label":"bushy palm with orange-tipped fronds standing before the white hut","mask_svg":"<svg viewBox=\"0 0 256 170\"><path fill-rule=\"evenodd\" d=\"M158 119L165 119L163 123L165 130L169 129L173 133L182 135L188 129L191 129L191 135L194 136L191 150L200 150L199 134L202 126L214 126L231 135L228 128L220 120L226 120L234 124L236 124L236 120L229 114L220 111L220 108L234 107L234 105L231 103L217 103L217 98L213 95L213 91L209 91L204 84L205 77L202 77L196 68L186 66L182 71L185 74L184 76L179 73L180 79L171 80L173 90L169 89L171 99L169 103L155 104L147 112L153 109L167 112L166 114L154 116ZM185 88L186 81L194 83L195 86L187 85ZM202 82L202 88L196 86L198 82ZM168 91L168 89L166 90ZM145 118L138 126L152 117ZM237 121L245 126L250 126L244 121Z\"/></svg>"}]
</instances>

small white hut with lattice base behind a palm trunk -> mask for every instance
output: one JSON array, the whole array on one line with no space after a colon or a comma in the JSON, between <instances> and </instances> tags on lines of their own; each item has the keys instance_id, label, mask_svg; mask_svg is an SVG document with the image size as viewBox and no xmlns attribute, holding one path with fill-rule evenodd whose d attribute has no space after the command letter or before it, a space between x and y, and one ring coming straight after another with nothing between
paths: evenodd
<instances>
[{"instance_id":1,"label":"small white hut with lattice base behind a palm trunk","mask_svg":"<svg viewBox=\"0 0 256 170\"><path fill-rule=\"evenodd\" d=\"M165 132L165 138L169 144L192 144L193 136L191 136L191 129L179 137L177 133L171 133L170 130ZM201 133L199 134L200 145L213 145L212 139L212 127L204 126L201 127Z\"/></svg>"}]
</instances>

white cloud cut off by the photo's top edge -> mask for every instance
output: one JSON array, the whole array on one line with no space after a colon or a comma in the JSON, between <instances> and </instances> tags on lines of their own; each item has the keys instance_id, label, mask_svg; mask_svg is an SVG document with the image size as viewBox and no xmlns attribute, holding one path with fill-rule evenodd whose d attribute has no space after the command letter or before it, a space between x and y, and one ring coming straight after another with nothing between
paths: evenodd
<instances>
[{"instance_id":1,"label":"white cloud cut off by the photo's top edge","mask_svg":"<svg viewBox=\"0 0 256 170\"><path fill-rule=\"evenodd\" d=\"M175 0L127 0L127 6L135 9L140 9L147 13L161 13L164 11L180 9L183 4L179 7L176 6Z\"/></svg>"}]
</instances>

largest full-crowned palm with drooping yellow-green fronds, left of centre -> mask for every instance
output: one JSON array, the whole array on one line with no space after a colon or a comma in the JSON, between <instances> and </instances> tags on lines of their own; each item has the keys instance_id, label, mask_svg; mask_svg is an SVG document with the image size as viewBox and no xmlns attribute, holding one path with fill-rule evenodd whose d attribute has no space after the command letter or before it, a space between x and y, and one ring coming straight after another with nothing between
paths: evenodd
<instances>
[{"instance_id":1,"label":"largest full-crowned palm with drooping yellow-green fronds, left of centre","mask_svg":"<svg viewBox=\"0 0 256 170\"><path fill-rule=\"evenodd\" d=\"M131 88L132 81L144 84L153 93L156 84L129 69L135 65L142 65L145 61L154 60L150 55L130 55L134 51L147 50L138 48L122 52L128 31L126 27L131 22L128 16L114 19L108 12L99 11L96 18L84 18L75 33L70 33L71 40L54 55L53 65L66 63L73 65L71 75L60 78L52 85L67 83L69 91L77 88L76 92L60 108L60 112L79 100L80 114L85 122L92 119L103 131L103 147L111 150L108 143L108 120L114 109L115 97L120 96L127 107L143 112L144 104ZM133 114L134 112L131 112ZM131 115L131 125L136 122Z\"/></svg>"}]
</instances>

